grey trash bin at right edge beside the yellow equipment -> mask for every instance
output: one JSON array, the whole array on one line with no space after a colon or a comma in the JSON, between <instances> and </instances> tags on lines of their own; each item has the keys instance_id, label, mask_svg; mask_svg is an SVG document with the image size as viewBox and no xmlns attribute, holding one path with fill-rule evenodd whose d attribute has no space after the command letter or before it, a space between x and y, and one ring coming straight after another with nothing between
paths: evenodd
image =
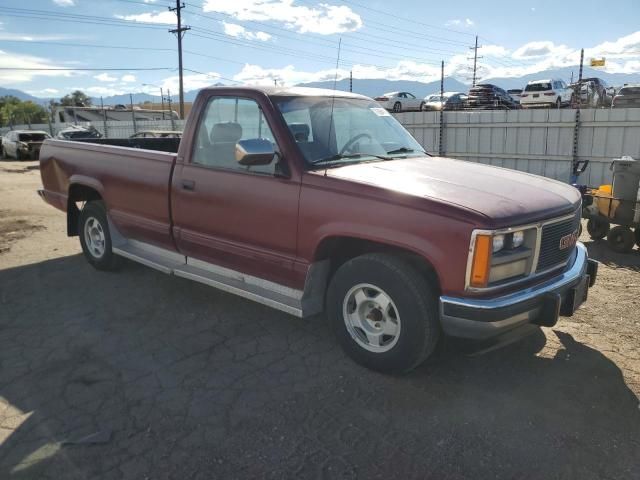
<instances>
[{"instance_id":1,"label":"grey trash bin at right edge beside the yellow equipment","mask_svg":"<svg viewBox=\"0 0 640 480\"><path fill-rule=\"evenodd\" d=\"M640 222L640 161L631 157L616 158L613 170L613 196L621 200L616 212L616 222L621 224Z\"/></svg>"}]
</instances>

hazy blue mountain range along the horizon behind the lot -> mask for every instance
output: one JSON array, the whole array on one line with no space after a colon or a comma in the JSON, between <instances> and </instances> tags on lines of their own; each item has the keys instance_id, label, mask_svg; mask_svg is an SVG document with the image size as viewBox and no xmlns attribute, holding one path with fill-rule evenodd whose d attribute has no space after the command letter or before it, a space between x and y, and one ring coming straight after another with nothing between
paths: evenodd
<instances>
[{"instance_id":1,"label":"hazy blue mountain range along the horizon behind the lot","mask_svg":"<svg viewBox=\"0 0 640 480\"><path fill-rule=\"evenodd\" d=\"M605 80L607 83L613 86L622 86L625 83L640 83L640 73L606 73L600 70L595 70L593 68L585 67L582 73L583 78L589 77L600 77ZM543 72L533 73L529 75L523 75L521 77L512 77L512 78L487 78L483 79L482 83L493 83L504 89L509 88L524 88L527 82L531 80L540 80L545 78L560 78L567 83L573 77L574 80L578 78L578 67L563 67L553 70L546 70ZM216 84L221 85L221 84ZM323 81L323 82L310 82L310 83L301 83L298 86L301 87L318 87L318 88L333 88L334 82L332 80ZM337 90L348 91L349 90L349 79L338 80L335 84L335 88ZM469 85L460 82L459 80L453 77L445 77L444 79L444 90L445 91L457 91L457 92L466 92L469 89ZM360 93L362 95L366 95L368 97L375 97L377 95L381 95L386 92L393 91L406 91L411 92L417 97L425 97L431 93L436 93L440 91L440 82L419 82L412 80L387 80L387 79L371 79L371 78L354 78L353 79L353 91L355 93ZM190 90L185 92L184 99L186 102L192 102L196 95L198 94L198 90ZM18 97L20 100L31 100L40 104L47 104L51 98L41 98L34 97L26 92L21 90L12 89L12 88L3 88L0 87L0 97L5 95L13 95ZM100 105L100 98L92 98L94 105ZM124 95L113 95L109 97L104 97L102 99L105 105L117 105L124 104L127 105L130 102L129 94ZM133 103L143 103L145 101L150 101L154 103L160 102L159 95L149 95L147 93L134 93L133 94ZM178 97L177 95L172 98L172 102L177 104Z\"/></svg>"}]
</instances>

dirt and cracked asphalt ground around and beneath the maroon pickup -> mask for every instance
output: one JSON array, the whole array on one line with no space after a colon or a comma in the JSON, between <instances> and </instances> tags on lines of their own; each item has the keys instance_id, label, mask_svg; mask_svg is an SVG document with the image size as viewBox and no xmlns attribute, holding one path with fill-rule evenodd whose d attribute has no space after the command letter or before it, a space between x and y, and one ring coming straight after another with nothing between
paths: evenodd
<instances>
[{"instance_id":1,"label":"dirt and cracked asphalt ground around and beneath the maroon pickup","mask_svg":"<svg viewBox=\"0 0 640 480\"><path fill-rule=\"evenodd\" d=\"M0 478L640 478L640 252L588 303L403 377L300 320L126 263L93 270L37 164L0 162Z\"/></svg>"}]
</instances>

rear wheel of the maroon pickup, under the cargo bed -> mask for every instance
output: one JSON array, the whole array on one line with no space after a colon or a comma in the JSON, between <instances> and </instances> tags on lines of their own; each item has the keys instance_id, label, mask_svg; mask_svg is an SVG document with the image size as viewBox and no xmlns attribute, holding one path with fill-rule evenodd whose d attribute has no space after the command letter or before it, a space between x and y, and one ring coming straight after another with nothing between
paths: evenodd
<instances>
[{"instance_id":1,"label":"rear wheel of the maroon pickup, under the cargo bed","mask_svg":"<svg viewBox=\"0 0 640 480\"><path fill-rule=\"evenodd\" d=\"M115 270L119 257L111 249L111 233L104 203L87 203L78 219L80 245L87 261L98 270Z\"/></svg>"}]
</instances>

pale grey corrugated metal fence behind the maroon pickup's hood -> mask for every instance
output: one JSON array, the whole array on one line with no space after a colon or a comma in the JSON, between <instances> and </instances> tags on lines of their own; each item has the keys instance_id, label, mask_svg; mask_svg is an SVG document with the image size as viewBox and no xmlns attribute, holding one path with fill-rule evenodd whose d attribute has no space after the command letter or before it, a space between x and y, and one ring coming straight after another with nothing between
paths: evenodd
<instances>
[{"instance_id":1,"label":"pale grey corrugated metal fence behind the maroon pickup's hood","mask_svg":"<svg viewBox=\"0 0 640 480\"><path fill-rule=\"evenodd\" d=\"M425 150L438 153L438 112L395 117ZM568 182L575 119L571 109L445 112L444 154ZM589 160L589 166L579 183L610 183L611 160L623 155L640 160L640 108L581 110L578 160Z\"/></svg>"}]
</instances>

